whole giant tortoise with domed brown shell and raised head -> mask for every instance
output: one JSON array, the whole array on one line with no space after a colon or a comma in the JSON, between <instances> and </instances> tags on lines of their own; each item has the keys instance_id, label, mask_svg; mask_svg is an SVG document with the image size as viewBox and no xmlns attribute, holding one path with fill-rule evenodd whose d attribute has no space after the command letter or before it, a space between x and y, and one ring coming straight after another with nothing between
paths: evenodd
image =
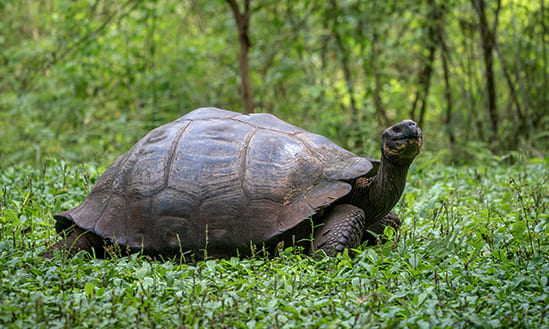
<instances>
[{"instance_id":1,"label":"whole giant tortoise with domed brown shell and raised head","mask_svg":"<svg viewBox=\"0 0 549 329\"><path fill-rule=\"evenodd\" d=\"M374 241L421 151L405 120L381 136L381 160L357 156L271 114L200 108L149 132L76 208L54 216L53 249L201 259L275 251L334 255ZM373 234L372 234L373 233Z\"/></svg>"}]
</instances>

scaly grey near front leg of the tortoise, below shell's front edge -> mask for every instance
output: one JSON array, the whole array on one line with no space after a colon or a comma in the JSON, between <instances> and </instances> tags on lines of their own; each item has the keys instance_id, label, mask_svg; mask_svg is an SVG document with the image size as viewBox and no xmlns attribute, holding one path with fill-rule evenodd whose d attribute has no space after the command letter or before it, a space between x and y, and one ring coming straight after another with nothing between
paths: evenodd
<instances>
[{"instance_id":1,"label":"scaly grey near front leg of the tortoise, below shell's front edge","mask_svg":"<svg viewBox=\"0 0 549 329\"><path fill-rule=\"evenodd\" d=\"M335 256L349 249L349 255L353 256L365 226L364 211L358 207L341 204L329 209L324 214L324 225L315 229L311 254L323 250L328 256Z\"/></svg>"}]
</instances>

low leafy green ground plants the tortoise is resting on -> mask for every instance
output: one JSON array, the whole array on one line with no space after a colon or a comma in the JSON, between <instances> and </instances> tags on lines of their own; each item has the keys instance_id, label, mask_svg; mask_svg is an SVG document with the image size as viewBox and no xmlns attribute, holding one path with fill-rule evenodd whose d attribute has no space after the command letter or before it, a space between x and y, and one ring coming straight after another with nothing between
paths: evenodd
<instances>
[{"instance_id":1,"label":"low leafy green ground plants the tortoise is resting on","mask_svg":"<svg viewBox=\"0 0 549 329\"><path fill-rule=\"evenodd\" d=\"M354 259L285 250L196 265L43 259L52 214L104 168L0 171L2 328L547 328L549 159L475 167L422 155L400 234Z\"/></svg>"}]
</instances>

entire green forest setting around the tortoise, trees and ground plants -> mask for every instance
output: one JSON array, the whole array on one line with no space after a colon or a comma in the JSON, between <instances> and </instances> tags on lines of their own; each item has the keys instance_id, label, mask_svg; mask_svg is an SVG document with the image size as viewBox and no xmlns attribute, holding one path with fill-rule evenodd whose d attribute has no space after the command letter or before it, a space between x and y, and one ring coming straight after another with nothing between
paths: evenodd
<instances>
[{"instance_id":1,"label":"entire green forest setting around the tortoise, trees and ground plants","mask_svg":"<svg viewBox=\"0 0 549 329\"><path fill-rule=\"evenodd\" d=\"M548 16L545 0L0 0L0 327L549 328ZM354 258L40 257L53 214L203 106L374 158L383 129L418 121L401 231Z\"/></svg>"}]
</instances>

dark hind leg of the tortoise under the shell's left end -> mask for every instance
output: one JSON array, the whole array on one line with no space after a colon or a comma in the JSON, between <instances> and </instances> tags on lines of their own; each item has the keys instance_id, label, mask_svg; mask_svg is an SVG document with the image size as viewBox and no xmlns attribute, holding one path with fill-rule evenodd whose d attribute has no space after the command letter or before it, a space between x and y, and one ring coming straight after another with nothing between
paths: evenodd
<instances>
[{"instance_id":1,"label":"dark hind leg of the tortoise under the shell's left end","mask_svg":"<svg viewBox=\"0 0 549 329\"><path fill-rule=\"evenodd\" d=\"M51 245L42 254L45 258L53 258L53 250L68 251L70 255L75 255L79 251L85 250L90 255L98 258L104 258L106 241L97 234L86 231L78 226L67 229L64 233L64 239ZM95 252L94 252L95 251Z\"/></svg>"}]
</instances>

